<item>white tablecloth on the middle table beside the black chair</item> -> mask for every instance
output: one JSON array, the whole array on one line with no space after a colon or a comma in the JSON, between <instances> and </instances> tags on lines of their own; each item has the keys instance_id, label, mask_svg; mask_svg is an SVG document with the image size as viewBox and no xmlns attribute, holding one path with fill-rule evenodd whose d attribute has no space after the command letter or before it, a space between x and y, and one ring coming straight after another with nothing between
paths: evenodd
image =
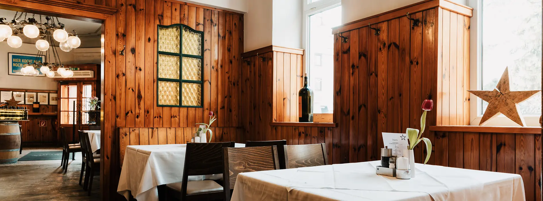
<instances>
[{"instance_id":1,"label":"white tablecloth on the middle table beside the black chair","mask_svg":"<svg viewBox=\"0 0 543 201\"><path fill-rule=\"evenodd\" d=\"M236 147L245 145L236 143ZM127 146L117 192L127 200L130 193L138 201L159 200L156 186L182 181L186 148L186 144Z\"/></svg>"}]
</instances>

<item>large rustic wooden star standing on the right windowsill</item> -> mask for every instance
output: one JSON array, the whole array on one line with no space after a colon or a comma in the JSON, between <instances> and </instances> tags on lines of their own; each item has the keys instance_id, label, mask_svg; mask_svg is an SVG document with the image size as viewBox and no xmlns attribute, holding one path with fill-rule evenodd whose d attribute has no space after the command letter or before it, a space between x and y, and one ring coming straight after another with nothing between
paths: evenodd
<instances>
[{"instance_id":1,"label":"large rustic wooden star standing on the right windowsill","mask_svg":"<svg viewBox=\"0 0 543 201\"><path fill-rule=\"evenodd\" d=\"M526 101L541 90L532 91L511 91L509 87L509 71L503 72L496 89L492 91L468 90L473 95L488 102L487 110L484 111L483 118L479 125L484 125L488 120L500 114L505 115L515 123L526 126L522 113L519 110L519 103Z\"/></svg>"}]
</instances>

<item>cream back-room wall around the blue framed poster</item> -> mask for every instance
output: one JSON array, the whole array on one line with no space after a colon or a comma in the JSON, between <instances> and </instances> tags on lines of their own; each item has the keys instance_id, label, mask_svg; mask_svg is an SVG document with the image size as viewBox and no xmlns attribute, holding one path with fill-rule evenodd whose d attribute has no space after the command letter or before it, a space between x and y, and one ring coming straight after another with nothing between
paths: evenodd
<instances>
[{"instance_id":1,"label":"cream back-room wall around the blue framed poster","mask_svg":"<svg viewBox=\"0 0 543 201\"><path fill-rule=\"evenodd\" d=\"M72 50L73 51L73 50ZM78 48L75 52L100 52L100 48ZM8 53L36 54L34 44L23 43L19 48L12 48L8 43L0 42L0 88L8 89L30 89L30 90L57 90L57 82L53 78L33 76L10 76L8 75ZM91 53L64 52L58 49L62 64L100 64L100 57L92 56ZM93 54L93 53L92 53ZM78 56L76 55L83 55ZM52 57L53 58L53 57Z\"/></svg>"}]
</instances>

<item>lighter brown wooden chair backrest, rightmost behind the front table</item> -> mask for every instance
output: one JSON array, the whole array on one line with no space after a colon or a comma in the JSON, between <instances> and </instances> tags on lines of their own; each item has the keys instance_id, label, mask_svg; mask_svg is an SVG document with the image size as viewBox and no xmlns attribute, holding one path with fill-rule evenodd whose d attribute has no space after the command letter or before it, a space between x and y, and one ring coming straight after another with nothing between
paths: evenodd
<instances>
[{"instance_id":1,"label":"lighter brown wooden chair backrest, rightmost behind the front table","mask_svg":"<svg viewBox=\"0 0 543 201\"><path fill-rule=\"evenodd\" d=\"M287 169L328 165L326 145L286 145L285 165Z\"/></svg>"}]
</instances>

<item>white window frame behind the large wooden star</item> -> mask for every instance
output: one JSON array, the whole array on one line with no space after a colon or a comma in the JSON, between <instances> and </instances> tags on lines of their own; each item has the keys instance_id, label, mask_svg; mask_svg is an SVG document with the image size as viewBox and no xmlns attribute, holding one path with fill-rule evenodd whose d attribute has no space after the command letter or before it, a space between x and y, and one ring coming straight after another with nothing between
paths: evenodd
<instances>
[{"instance_id":1,"label":"white window frame behind the large wooden star","mask_svg":"<svg viewBox=\"0 0 543 201\"><path fill-rule=\"evenodd\" d=\"M468 0L468 6L473 8L473 16L470 20L470 90L481 90L481 67L482 67L482 1L491 0ZM483 114L481 114L481 98L470 93L470 125L479 125ZM525 114L522 115L526 126L539 127L539 117L541 114ZM506 116L500 114L497 117L487 121L485 125L490 126L513 126L519 127Z\"/></svg>"}]
</instances>

